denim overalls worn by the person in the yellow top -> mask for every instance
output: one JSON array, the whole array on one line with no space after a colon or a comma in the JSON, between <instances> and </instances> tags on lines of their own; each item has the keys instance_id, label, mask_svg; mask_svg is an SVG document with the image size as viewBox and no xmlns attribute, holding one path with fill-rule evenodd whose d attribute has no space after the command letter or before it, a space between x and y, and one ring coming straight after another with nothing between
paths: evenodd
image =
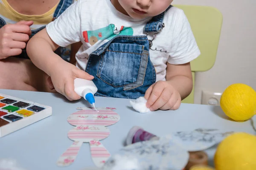
<instances>
[{"instance_id":1,"label":"denim overalls worn by the person in the yellow top","mask_svg":"<svg viewBox=\"0 0 256 170\"><path fill-rule=\"evenodd\" d=\"M60 0L59 4L53 14L53 20L56 19L57 17L59 17L72 4L72 2L73 2L73 0ZM6 22L5 22L5 20L3 20L0 17L0 28L2 28L4 25L6 25ZM45 26L42 26L41 28L32 30L32 34L30 35L30 38L44 28L45 28ZM65 59L65 60L69 60L68 57L70 57L70 56L69 56L69 52L67 52L66 48L60 47L55 51L55 53L58 54L59 56L61 56L61 58ZM22 49L22 53L15 57L29 59L29 57L26 53L26 48Z\"/></svg>"}]
</instances>

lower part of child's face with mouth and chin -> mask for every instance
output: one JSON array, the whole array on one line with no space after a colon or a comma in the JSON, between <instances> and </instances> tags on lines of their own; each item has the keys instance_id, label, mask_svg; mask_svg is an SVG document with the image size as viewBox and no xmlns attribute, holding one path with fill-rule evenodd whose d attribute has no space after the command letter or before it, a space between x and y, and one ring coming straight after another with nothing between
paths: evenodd
<instances>
[{"instance_id":1,"label":"lower part of child's face with mouth and chin","mask_svg":"<svg viewBox=\"0 0 256 170\"><path fill-rule=\"evenodd\" d=\"M111 0L117 1L120 7L118 9L124 14L128 14L134 19L144 19L154 17L165 11L171 5L173 0Z\"/></svg>"}]
</instances>

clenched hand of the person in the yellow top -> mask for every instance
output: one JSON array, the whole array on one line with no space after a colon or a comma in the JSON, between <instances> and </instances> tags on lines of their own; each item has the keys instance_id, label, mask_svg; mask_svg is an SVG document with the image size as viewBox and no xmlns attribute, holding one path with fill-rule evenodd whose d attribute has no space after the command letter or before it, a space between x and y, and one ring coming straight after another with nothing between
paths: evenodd
<instances>
[{"instance_id":1,"label":"clenched hand of the person in the yellow top","mask_svg":"<svg viewBox=\"0 0 256 170\"><path fill-rule=\"evenodd\" d=\"M26 47L33 21L20 21L0 28L0 59L21 54Z\"/></svg>"}]
</instances>

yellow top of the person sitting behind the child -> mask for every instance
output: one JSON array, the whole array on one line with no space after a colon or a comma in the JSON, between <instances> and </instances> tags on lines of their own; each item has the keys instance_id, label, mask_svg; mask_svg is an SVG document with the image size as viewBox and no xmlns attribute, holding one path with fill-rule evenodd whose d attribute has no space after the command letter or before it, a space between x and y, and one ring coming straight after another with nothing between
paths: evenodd
<instances>
[{"instance_id":1,"label":"yellow top of the person sitting behind the child","mask_svg":"<svg viewBox=\"0 0 256 170\"><path fill-rule=\"evenodd\" d=\"M34 24L30 28L34 30L41 28L52 21L57 6L58 3L49 11L41 15L25 15L15 11L7 0L0 0L0 18L5 20L7 24L17 23L20 20L33 20Z\"/></svg>"}]
</instances>

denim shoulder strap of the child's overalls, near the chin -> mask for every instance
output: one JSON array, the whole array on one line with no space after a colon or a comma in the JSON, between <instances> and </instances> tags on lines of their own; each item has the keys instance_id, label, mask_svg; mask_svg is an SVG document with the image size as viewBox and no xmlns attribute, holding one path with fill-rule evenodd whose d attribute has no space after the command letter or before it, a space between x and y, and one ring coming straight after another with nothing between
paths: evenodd
<instances>
[{"instance_id":1,"label":"denim shoulder strap of the child's overalls, near the chin","mask_svg":"<svg viewBox=\"0 0 256 170\"><path fill-rule=\"evenodd\" d=\"M167 9L169 10L169 8L171 8L172 5L170 5ZM164 27L164 23L163 23L163 17L166 13L166 11L164 11L163 13L153 17L150 21L148 21L148 23L146 23L145 27L144 27L144 31L145 32L159 32L161 29L163 29Z\"/></svg>"}]
</instances>

